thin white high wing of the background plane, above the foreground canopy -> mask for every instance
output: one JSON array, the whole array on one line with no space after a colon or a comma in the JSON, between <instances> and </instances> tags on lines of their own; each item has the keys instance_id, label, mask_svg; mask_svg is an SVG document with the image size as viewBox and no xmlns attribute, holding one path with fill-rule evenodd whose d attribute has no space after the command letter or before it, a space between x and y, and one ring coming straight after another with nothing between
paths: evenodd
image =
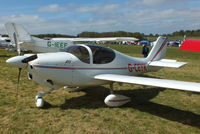
<instances>
[{"instance_id":1,"label":"thin white high wing of the background plane, above the foreground canopy","mask_svg":"<svg viewBox=\"0 0 200 134\"><path fill-rule=\"evenodd\" d=\"M69 41L137 41L133 37L110 37L110 38L52 38L52 40L69 40Z\"/></svg>"}]
</instances>

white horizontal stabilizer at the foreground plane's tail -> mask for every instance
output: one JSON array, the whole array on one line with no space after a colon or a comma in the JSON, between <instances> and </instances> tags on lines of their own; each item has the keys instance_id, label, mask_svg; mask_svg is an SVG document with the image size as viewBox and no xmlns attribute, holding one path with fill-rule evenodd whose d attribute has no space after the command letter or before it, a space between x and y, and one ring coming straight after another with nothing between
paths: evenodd
<instances>
[{"instance_id":1,"label":"white horizontal stabilizer at the foreground plane's tail","mask_svg":"<svg viewBox=\"0 0 200 134\"><path fill-rule=\"evenodd\" d=\"M176 60L162 59L162 60L159 60L159 61L152 61L149 64L149 66L179 68L179 67L182 67L186 64L187 64L187 62L176 62Z\"/></svg>"}]
</instances>

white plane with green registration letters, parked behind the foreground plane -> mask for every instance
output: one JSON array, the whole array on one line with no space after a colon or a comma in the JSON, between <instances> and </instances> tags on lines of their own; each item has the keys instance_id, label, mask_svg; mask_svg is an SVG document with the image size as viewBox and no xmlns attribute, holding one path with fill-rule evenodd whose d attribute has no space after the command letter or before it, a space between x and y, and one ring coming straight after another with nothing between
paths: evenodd
<instances>
[{"instance_id":1,"label":"white plane with green registration letters, parked behind the foreground plane","mask_svg":"<svg viewBox=\"0 0 200 134\"><path fill-rule=\"evenodd\" d=\"M20 44L21 49L35 52L59 52L74 42L96 42L96 41L137 41L132 37L111 37L111 38L53 38L44 40L31 36L21 25L15 23L6 23L6 31L14 43L14 36Z\"/></svg>"}]
</instances>

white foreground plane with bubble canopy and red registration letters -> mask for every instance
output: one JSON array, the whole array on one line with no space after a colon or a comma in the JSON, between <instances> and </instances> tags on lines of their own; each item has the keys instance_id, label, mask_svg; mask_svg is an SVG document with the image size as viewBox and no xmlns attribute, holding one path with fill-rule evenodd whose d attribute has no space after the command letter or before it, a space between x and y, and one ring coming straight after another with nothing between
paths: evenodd
<instances>
[{"instance_id":1,"label":"white foreground plane with bubble canopy and red registration letters","mask_svg":"<svg viewBox=\"0 0 200 134\"><path fill-rule=\"evenodd\" d=\"M15 42L18 44L16 37ZM18 85L21 69L25 68L30 80L50 88L48 91L38 93L37 107L43 107L44 94L66 86L84 88L110 84L111 94L104 100L108 106L121 106L130 101L129 97L113 93L114 82L200 92L200 83L136 76L149 71L158 71L163 67L179 68L187 64L163 59L166 54L166 44L167 38L159 37L147 58L130 57L103 46L69 45L63 52L19 55L6 62L19 68ZM18 54L20 54L19 45Z\"/></svg>"}]
</instances>

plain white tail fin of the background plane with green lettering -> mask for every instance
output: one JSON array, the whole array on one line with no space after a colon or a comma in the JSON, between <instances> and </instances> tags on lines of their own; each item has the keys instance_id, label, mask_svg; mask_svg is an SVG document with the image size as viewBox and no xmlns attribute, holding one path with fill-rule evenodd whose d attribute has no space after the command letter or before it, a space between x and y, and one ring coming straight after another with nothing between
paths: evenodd
<instances>
[{"instance_id":1,"label":"plain white tail fin of the background plane with green lettering","mask_svg":"<svg viewBox=\"0 0 200 134\"><path fill-rule=\"evenodd\" d=\"M8 22L5 27L12 43L14 43L14 33L18 42L31 42L30 34L21 25Z\"/></svg>"}]
</instances>

